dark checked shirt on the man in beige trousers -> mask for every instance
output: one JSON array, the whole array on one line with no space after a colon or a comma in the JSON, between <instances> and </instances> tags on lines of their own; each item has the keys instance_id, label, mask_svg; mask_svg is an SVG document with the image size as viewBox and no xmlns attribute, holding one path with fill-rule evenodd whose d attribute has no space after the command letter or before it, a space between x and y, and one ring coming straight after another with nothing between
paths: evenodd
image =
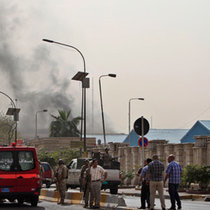
<instances>
[{"instance_id":1,"label":"dark checked shirt on the man in beige trousers","mask_svg":"<svg viewBox=\"0 0 210 210\"><path fill-rule=\"evenodd\" d=\"M149 179L151 181L160 182L163 181L164 165L159 160L154 160L148 165L147 174L150 174Z\"/></svg>"}]
</instances>

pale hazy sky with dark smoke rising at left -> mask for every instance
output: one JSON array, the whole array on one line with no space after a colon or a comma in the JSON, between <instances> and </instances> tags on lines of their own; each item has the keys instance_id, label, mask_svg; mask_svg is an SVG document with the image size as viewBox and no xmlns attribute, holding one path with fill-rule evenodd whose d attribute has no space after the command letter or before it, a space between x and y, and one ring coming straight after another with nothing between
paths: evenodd
<instances>
[{"instance_id":1,"label":"pale hazy sky with dark smoke rising at left","mask_svg":"<svg viewBox=\"0 0 210 210\"><path fill-rule=\"evenodd\" d=\"M72 77L85 57L87 132L102 132L99 77L107 132L128 133L144 116L152 128L190 128L210 119L210 1L0 0L0 91L17 99L18 129L48 129L58 109L81 112ZM0 112L9 100L0 96Z\"/></svg>"}]
</instances>

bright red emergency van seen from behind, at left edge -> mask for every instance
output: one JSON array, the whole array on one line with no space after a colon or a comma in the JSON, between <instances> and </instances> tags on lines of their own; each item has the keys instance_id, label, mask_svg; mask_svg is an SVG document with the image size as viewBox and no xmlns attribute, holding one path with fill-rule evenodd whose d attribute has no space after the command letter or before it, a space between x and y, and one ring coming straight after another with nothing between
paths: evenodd
<instances>
[{"instance_id":1,"label":"bright red emergency van seen from behind, at left edge","mask_svg":"<svg viewBox=\"0 0 210 210\"><path fill-rule=\"evenodd\" d=\"M37 206L41 180L40 166L33 147L0 146L0 201Z\"/></svg>"}]
</instances>

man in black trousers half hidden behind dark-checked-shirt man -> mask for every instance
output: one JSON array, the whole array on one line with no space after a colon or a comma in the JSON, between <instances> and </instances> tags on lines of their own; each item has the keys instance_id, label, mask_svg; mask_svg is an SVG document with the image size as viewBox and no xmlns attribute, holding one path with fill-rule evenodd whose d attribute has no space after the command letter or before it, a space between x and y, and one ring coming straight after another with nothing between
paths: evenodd
<instances>
[{"instance_id":1,"label":"man in black trousers half hidden behind dark-checked-shirt man","mask_svg":"<svg viewBox=\"0 0 210 210\"><path fill-rule=\"evenodd\" d=\"M139 185L141 186L141 207L139 209L146 209L145 203L147 202L148 208L150 208L150 193L149 193L149 183L146 183L146 173L148 170L148 164L152 162L150 158L144 161L144 168L140 173Z\"/></svg>"}]
</instances>

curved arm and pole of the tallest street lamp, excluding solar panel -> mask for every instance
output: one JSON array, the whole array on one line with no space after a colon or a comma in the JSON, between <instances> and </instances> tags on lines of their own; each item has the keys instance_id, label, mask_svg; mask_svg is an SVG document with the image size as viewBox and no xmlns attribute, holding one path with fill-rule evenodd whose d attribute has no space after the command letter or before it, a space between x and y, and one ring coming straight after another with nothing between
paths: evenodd
<instances>
[{"instance_id":1,"label":"curved arm and pole of the tallest street lamp, excluding solar panel","mask_svg":"<svg viewBox=\"0 0 210 210\"><path fill-rule=\"evenodd\" d=\"M70 47L70 48L73 48L74 50L76 50L82 57L83 65L84 65L84 73L86 72L85 57L83 56L82 52L79 49L77 49L76 47L74 47L72 45L64 44L61 42L56 42L56 41L49 40L49 39L42 39L42 41L62 45L65 47ZM84 115L84 117L83 117L83 115ZM82 119L84 119L84 152L86 152L86 87L83 87L83 89L82 89L81 117L82 117ZM81 139L82 139L82 124L83 124L83 120L81 120Z\"/></svg>"}]
</instances>

